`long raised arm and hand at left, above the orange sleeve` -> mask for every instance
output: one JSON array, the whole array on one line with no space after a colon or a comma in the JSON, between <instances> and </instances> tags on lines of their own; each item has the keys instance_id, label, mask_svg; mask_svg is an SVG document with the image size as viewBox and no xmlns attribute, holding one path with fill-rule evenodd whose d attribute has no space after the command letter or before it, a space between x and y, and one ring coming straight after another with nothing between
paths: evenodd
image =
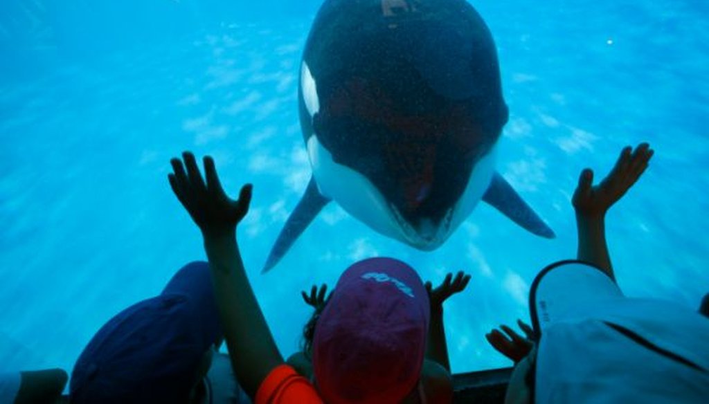
<instances>
[{"instance_id":1,"label":"long raised arm and hand at left, above the orange sleeve","mask_svg":"<svg viewBox=\"0 0 709 404\"><path fill-rule=\"evenodd\" d=\"M284 361L251 289L236 242L236 226L249 210L252 186L243 186L234 201L222 189L211 157L204 157L206 182L190 152L170 163L172 191L202 232L231 366L254 398L264 378Z\"/></svg>"}]
</instances>

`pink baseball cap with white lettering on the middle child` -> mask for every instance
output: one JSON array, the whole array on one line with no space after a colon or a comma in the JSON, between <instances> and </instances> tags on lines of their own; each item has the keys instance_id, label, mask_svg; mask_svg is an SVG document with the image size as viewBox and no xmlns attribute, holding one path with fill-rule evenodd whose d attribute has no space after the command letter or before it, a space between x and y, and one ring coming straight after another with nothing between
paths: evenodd
<instances>
[{"instance_id":1,"label":"pink baseball cap with white lettering on the middle child","mask_svg":"<svg viewBox=\"0 0 709 404\"><path fill-rule=\"evenodd\" d=\"M364 259L340 276L316 325L313 368L326 402L397 403L421 374L428 293L411 266Z\"/></svg>"}]
</instances>

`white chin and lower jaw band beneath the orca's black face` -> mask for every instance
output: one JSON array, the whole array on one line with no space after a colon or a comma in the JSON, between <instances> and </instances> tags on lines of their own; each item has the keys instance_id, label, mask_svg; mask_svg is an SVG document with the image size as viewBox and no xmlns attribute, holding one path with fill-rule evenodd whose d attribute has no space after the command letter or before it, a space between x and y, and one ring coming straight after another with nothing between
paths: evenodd
<instances>
[{"instance_id":1,"label":"white chin and lower jaw band beneath the orca's black face","mask_svg":"<svg viewBox=\"0 0 709 404\"><path fill-rule=\"evenodd\" d=\"M317 135L308 139L307 147L313 176L323 196L382 235L424 251L440 247L468 217L488 188L494 171L494 152L490 152L477 162L462 196L447 209L442 220L420 218L418 223L410 223L366 176L335 162Z\"/></svg>"}]
</instances>

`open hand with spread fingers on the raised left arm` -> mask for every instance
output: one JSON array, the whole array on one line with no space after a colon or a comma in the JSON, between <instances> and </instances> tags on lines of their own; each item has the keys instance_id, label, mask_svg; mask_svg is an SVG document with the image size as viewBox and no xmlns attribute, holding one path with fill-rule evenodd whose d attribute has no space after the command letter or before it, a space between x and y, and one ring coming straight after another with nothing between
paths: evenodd
<instances>
[{"instance_id":1,"label":"open hand with spread fingers on the raised left arm","mask_svg":"<svg viewBox=\"0 0 709 404\"><path fill-rule=\"evenodd\" d=\"M191 152L184 152L182 159L184 159L184 166L181 159L170 160L174 172L167 176L177 199L189 212L203 235L217 237L233 235L236 225L249 211L251 184L243 186L239 199L234 201L224 193L211 157L204 157L206 184L194 155Z\"/></svg>"}]
</instances>

